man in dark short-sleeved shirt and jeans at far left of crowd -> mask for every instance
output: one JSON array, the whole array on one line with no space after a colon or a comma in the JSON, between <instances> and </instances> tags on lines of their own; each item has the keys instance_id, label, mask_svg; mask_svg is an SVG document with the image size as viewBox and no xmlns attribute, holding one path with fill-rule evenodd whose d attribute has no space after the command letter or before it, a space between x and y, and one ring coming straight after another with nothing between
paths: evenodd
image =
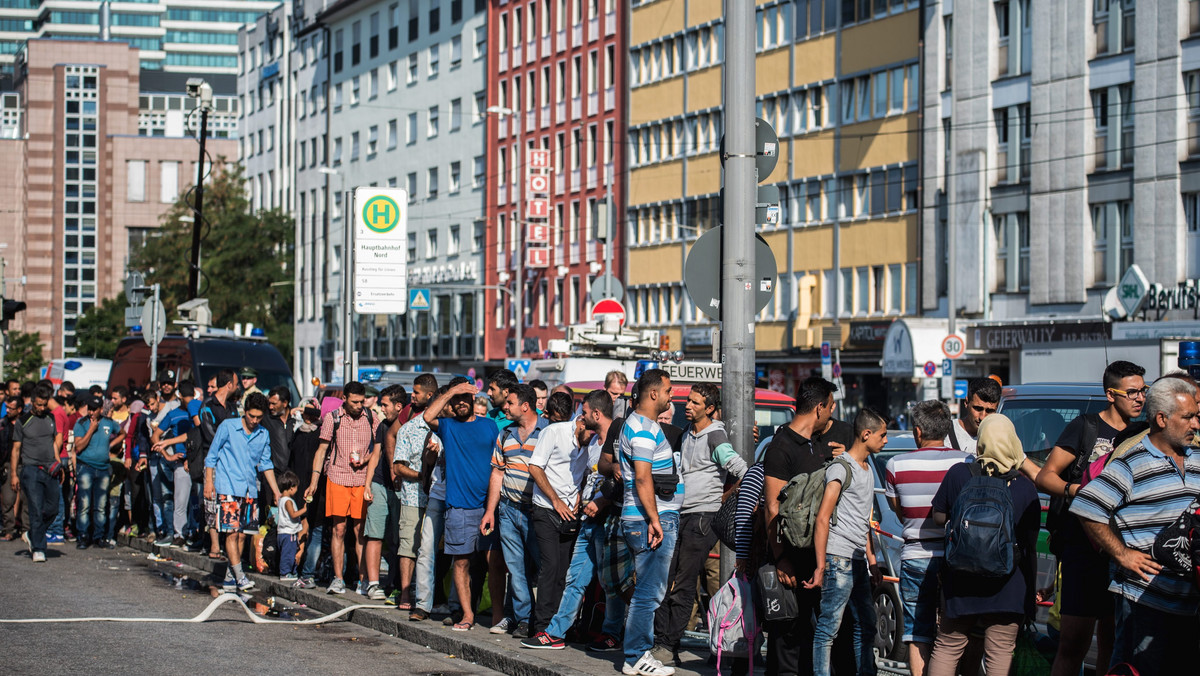
<instances>
[{"instance_id":1,"label":"man in dark short-sleeved shirt and jeans at far left of crowd","mask_svg":"<svg viewBox=\"0 0 1200 676\"><path fill-rule=\"evenodd\" d=\"M34 388L30 413L17 419L8 472L12 490L19 487L29 505L29 532L25 538L35 563L46 561L46 530L59 513L59 481L52 472L59 469L56 465L62 448L62 432L50 415L48 402L53 395L54 391L47 384Z\"/></svg>"}]
</instances>

